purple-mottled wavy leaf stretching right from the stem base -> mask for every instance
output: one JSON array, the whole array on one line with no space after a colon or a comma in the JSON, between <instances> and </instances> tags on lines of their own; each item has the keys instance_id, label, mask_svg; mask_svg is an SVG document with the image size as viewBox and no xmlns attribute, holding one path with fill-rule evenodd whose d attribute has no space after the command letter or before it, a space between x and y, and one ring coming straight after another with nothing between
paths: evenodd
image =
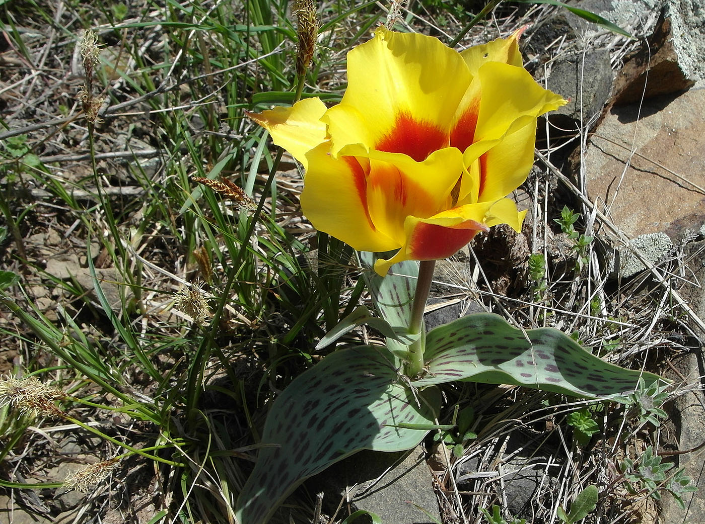
<instances>
[{"instance_id":1,"label":"purple-mottled wavy leaf stretching right from the stem base","mask_svg":"<svg viewBox=\"0 0 705 524\"><path fill-rule=\"evenodd\" d=\"M605 362L558 330L518 330L491 313L431 330L424 362L427 374L412 382L415 387L468 380L594 399L633 391L639 378L666 383L653 373Z\"/></svg>"}]
</instances>

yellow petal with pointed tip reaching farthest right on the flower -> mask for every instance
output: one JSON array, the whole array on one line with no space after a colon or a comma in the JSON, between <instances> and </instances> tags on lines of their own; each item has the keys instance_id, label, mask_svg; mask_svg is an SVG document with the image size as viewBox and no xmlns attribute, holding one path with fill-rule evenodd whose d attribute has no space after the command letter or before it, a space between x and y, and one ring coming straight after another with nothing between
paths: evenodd
<instances>
[{"instance_id":1,"label":"yellow petal with pointed tip reaching farthest right on the flower","mask_svg":"<svg viewBox=\"0 0 705 524\"><path fill-rule=\"evenodd\" d=\"M562 96L538 85L522 68L488 62L479 68L478 77L482 99L474 134L476 141L502 137L518 118L536 118L568 104Z\"/></svg>"}]
</instances>

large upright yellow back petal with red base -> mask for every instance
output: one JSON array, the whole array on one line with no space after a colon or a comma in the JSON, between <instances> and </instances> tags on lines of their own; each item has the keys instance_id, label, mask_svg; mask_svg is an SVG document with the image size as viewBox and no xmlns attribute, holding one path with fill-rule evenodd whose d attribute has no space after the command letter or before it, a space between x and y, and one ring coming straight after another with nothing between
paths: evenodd
<instances>
[{"instance_id":1,"label":"large upright yellow back petal with red base","mask_svg":"<svg viewBox=\"0 0 705 524\"><path fill-rule=\"evenodd\" d=\"M348 53L348 89L324 117L333 155L347 144L364 144L424 160L448 146L469 84L465 61L439 39L380 27Z\"/></svg>"}]
</instances>

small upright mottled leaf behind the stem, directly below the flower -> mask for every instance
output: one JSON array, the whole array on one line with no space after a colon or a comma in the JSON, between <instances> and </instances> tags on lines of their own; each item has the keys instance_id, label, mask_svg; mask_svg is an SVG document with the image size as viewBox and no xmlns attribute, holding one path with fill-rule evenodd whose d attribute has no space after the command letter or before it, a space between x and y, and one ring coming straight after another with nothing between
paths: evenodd
<instances>
[{"instance_id":1,"label":"small upright mottled leaf behind the stem, directly below the flower","mask_svg":"<svg viewBox=\"0 0 705 524\"><path fill-rule=\"evenodd\" d=\"M379 314L393 327L408 328L419 276L419 263L412 260L396 263L385 277L381 277L372 269L378 256L367 251L360 251L359 256L360 263L365 268L363 275L367 289Z\"/></svg>"}]
</instances>

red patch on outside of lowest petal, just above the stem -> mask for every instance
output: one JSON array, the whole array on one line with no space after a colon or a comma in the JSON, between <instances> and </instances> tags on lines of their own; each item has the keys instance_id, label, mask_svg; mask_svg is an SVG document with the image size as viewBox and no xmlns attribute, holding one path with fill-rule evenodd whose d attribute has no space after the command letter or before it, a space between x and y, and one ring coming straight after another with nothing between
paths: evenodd
<instances>
[{"instance_id":1,"label":"red patch on outside of lowest petal, just above the stem","mask_svg":"<svg viewBox=\"0 0 705 524\"><path fill-rule=\"evenodd\" d=\"M434 260L457 253L479 231L489 227L474 220L467 220L455 227L419 223L409 242L410 257L414 260Z\"/></svg>"}]
</instances>

